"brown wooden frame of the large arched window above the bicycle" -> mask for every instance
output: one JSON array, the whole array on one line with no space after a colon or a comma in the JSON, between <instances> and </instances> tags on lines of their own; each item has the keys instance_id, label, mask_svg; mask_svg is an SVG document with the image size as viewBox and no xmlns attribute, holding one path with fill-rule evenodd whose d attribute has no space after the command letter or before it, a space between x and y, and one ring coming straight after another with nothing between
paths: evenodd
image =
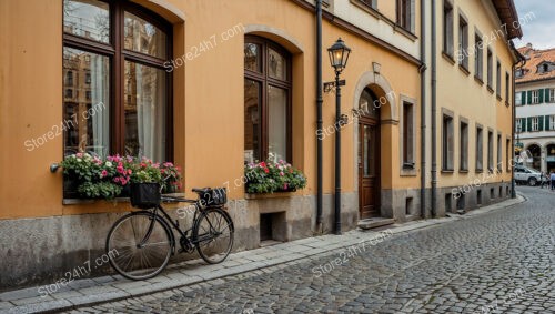
<instances>
[{"instance_id":1,"label":"brown wooden frame of the large arched window above the bicycle","mask_svg":"<svg viewBox=\"0 0 555 314\"><path fill-rule=\"evenodd\" d=\"M164 68L164 63L172 59L173 32L170 22L157 13L128 1L99 0L109 4L110 40L108 43L87 39L84 37L62 31L62 49L73 48L97 53L109 58L110 62L110 150L109 154L125 154L125 111L124 111L124 61L157 68L167 72L167 118L165 118L165 160L173 161L173 75ZM63 12L61 1L61 10ZM123 45L124 12L132 13L153 24L167 36L165 59L148 55L141 52L127 50ZM62 13L63 17L63 13ZM63 58L63 57L62 57ZM65 87L64 87L65 88ZM64 109L65 110L65 109ZM65 148L63 148L65 149Z\"/></svg>"}]
</instances>

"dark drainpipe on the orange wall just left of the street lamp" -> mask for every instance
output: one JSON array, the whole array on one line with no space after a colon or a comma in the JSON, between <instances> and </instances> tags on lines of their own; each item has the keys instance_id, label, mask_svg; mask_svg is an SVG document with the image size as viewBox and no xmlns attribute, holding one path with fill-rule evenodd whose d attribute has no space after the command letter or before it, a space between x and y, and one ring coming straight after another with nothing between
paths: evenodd
<instances>
[{"instance_id":1,"label":"dark drainpipe on the orange wall just left of the street lamp","mask_svg":"<svg viewBox=\"0 0 555 314\"><path fill-rule=\"evenodd\" d=\"M316 0L316 231L323 231L322 226L322 0Z\"/></svg>"}]
</instances>

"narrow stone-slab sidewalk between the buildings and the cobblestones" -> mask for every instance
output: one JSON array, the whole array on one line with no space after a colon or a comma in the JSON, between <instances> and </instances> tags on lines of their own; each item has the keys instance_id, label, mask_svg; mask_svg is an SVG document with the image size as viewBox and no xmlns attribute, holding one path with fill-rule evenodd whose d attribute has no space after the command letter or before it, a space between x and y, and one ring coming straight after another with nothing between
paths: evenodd
<instances>
[{"instance_id":1,"label":"narrow stone-slab sidewalk between the buildings and the cobblestones","mask_svg":"<svg viewBox=\"0 0 555 314\"><path fill-rule=\"evenodd\" d=\"M434 220L421 220L402 225L392 225L391 233L398 235L411 231L472 219L524 202L521 195L491 206L473 210L464 215L452 215ZM391 236L390 236L391 237ZM78 280L57 293L41 296L39 287L30 287L0 294L0 313L58 312L138 297L192 284L212 281L230 275L266 269L292 261L311 259L314 255L330 255L337 249L385 237L375 231L350 231L343 235L322 235L256 250L230 254L221 264L208 265L202 260L188 261L169 266L159 276L147 281L130 281L120 275ZM385 239L386 240L386 239ZM299 261L301 262L301 261ZM44 293L43 293L44 294Z\"/></svg>"}]
</instances>

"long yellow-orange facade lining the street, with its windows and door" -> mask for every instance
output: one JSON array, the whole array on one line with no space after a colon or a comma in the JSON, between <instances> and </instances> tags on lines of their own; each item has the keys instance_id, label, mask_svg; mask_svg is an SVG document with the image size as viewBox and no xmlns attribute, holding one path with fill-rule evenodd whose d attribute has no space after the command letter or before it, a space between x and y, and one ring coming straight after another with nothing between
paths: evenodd
<instances>
[{"instance_id":1,"label":"long yellow-orange facade lining the street, with its windows and door","mask_svg":"<svg viewBox=\"0 0 555 314\"><path fill-rule=\"evenodd\" d=\"M512 1L484 1L486 8L453 2L457 16L468 17L468 36L517 20L494 4ZM442 1L435 3L442 12ZM2 1L0 143L9 150L0 159L0 252L7 256L0 272L9 275L0 288L48 282L72 263L100 256L111 224L131 210L123 199L80 200L64 192L61 171L50 166L75 152L173 161L183 168L183 192L191 197L192 188L228 188L234 250L334 231L336 132L343 231L369 217L392 223L444 215L447 192L478 174L468 158L467 171L437 170L434 180L430 150L433 136L442 146L444 115L453 120L452 148L460 145L460 121L467 121L468 139L480 124L485 142L493 131L496 151L497 136L503 146L511 136L512 99L504 91L498 99L474 79L474 59L463 71L454 57L442 58L442 17L432 23L427 2L330 0L323 1L322 78L334 80L326 48L341 38L352 49L341 73L346 121L335 124L332 88L323 93L319 130L316 7L304 0ZM423 40L434 37L433 27L435 48ZM488 45L511 82L512 37ZM435 115L432 49L441 78ZM440 125L435 134L432 119ZM453 166L460 164L456 151ZM485 149L483 154L486 160ZM300 169L306 189L245 193L244 164L265 159ZM491 181L495 193L511 179L503 170ZM496 199L505 195L503 190ZM467 201L463 207L471 206Z\"/></svg>"}]
</instances>

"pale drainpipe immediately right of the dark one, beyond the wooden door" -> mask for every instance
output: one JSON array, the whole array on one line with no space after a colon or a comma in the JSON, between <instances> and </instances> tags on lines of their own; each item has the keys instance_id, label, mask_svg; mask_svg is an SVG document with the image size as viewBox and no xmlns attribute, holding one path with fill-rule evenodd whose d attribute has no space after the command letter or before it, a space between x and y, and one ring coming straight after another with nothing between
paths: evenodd
<instances>
[{"instance_id":1,"label":"pale drainpipe immediately right of the dark one, beyond the wooden door","mask_svg":"<svg viewBox=\"0 0 555 314\"><path fill-rule=\"evenodd\" d=\"M437 215L437 40L436 40L436 8L432 0L432 216Z\"/></svg>"}]
</instances>

